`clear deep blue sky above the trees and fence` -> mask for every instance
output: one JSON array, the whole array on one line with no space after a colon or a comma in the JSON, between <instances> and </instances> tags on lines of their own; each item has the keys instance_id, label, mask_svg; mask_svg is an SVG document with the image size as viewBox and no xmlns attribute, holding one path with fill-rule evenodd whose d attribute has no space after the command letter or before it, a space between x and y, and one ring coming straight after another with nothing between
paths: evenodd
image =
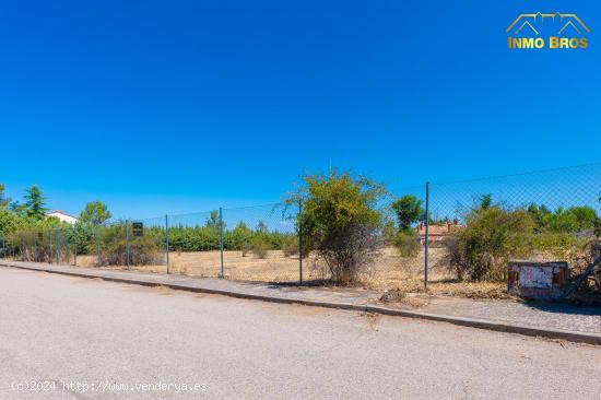
<instances>
[{"instance_id":1,"label":"clear deep blue sky above the trees and fence","mask_svg":"<svg viewBox=\"0 0 601 400\"><path fill-rule=\"evenodd\" d=\"M510 50L522 12L586 50ZM599 160L598 1L19 1L0 183L120 216L276 201L329 165L394 191ZM600 42L598 42L598 38Z\"/></svg>"}]
</instances>

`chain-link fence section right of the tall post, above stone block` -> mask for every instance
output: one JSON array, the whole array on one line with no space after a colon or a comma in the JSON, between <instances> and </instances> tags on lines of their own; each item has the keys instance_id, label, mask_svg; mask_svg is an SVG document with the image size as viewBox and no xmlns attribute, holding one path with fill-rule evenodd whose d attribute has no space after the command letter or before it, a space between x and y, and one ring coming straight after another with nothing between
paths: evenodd
<instances>
[{"instance_id":1,"label":"chain-link fence section right of the tall post, above stone block","mask_svg":"<svg viewBox=\"0 0 601 400\"><path fill-rule=\"evenodd\" d=\"M598 252L601 165L429 185L429 237L456 278L503 281L509 259L568 261Z\"/></svg>"}]
</instances>

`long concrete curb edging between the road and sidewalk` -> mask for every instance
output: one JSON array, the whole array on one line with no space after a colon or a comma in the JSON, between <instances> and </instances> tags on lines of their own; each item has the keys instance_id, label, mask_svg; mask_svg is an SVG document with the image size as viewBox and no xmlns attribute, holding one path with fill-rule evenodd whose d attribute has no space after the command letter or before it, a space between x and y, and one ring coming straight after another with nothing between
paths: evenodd
<instances>
[{"instance_id":1,"label":"long concrete curb edging between the road and sidewalk","mask_svg":"<svg viewBox=\"0 0 601 400\"><path fill-rule=\"evenodd\" d=\"M280 297L280 296L266 296L266 295L251 294L251 293L226 291L221 289L198 287L198 286L192 286L187 284L161 283L154 280L106 277L106 275L94 274L94 273L89 273L84 271L61 271L56 269L43 268L43 267L27 267L27 266L20 266L20 264L7 263L7 262L0 262L0 266L8 267L8 268L30 270L30 271L79 277L79 278L90 278L90 279L99 278L102 280L109 281L109 282L138 284L138 285L144 285L144 286L165 286L177 291L217 294L217 295L224 295L229 297L254 299L254 301L260 301L260 302L270 302L270 303L280 303L280 304L299 304L299 305L305 305L310 307L337 308L337 309L355 310L355 311L362 311L362 313L381 314L381 315L388 315L388 316L424 319L424 320L432 320L432 321L438 321L438 322L453 323L453 325L469 327L469 328L492 330L497 332L518 333L518 334L523 334L528 337L558 339L558 340L566 340L570 342L577 342L577 343L601 345L601 334L596 334L596 333L584 333L584 332L558 330L558 329L544 329L544 328L528 327L522 325L509 325L509 323L495 322L495 321L485 320L485 319L474 319L474 318L455 317L455 316L440 315L440 314L412 311L406 309L386 308L386 307L374 306L374 305L358 305L358 304L351 304L351 303L320 302L320 301L308 301L308 299ZM110 271L110 272L119 273L119 271Z\"/></svg>"}]
</instances>

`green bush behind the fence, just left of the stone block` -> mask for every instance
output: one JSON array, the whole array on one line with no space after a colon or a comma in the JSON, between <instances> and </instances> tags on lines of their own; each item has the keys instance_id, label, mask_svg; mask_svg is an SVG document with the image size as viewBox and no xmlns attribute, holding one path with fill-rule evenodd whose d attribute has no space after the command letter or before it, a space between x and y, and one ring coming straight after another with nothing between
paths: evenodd
<instances>
[{"instance_id":1,"label":"green bush behind the fence, just left of the stone block","mask_svg":"<svg viewBox=\"0 0 601 400\"><path fill-rule=\"evenodd\" d=\"M525 210L490 205L473 210L466 220L466 227L457 230L449 243L450 260L460 280L503 281L509 258L528 257L533 251L534 222Z\"/></svg>"}]
</instances>

